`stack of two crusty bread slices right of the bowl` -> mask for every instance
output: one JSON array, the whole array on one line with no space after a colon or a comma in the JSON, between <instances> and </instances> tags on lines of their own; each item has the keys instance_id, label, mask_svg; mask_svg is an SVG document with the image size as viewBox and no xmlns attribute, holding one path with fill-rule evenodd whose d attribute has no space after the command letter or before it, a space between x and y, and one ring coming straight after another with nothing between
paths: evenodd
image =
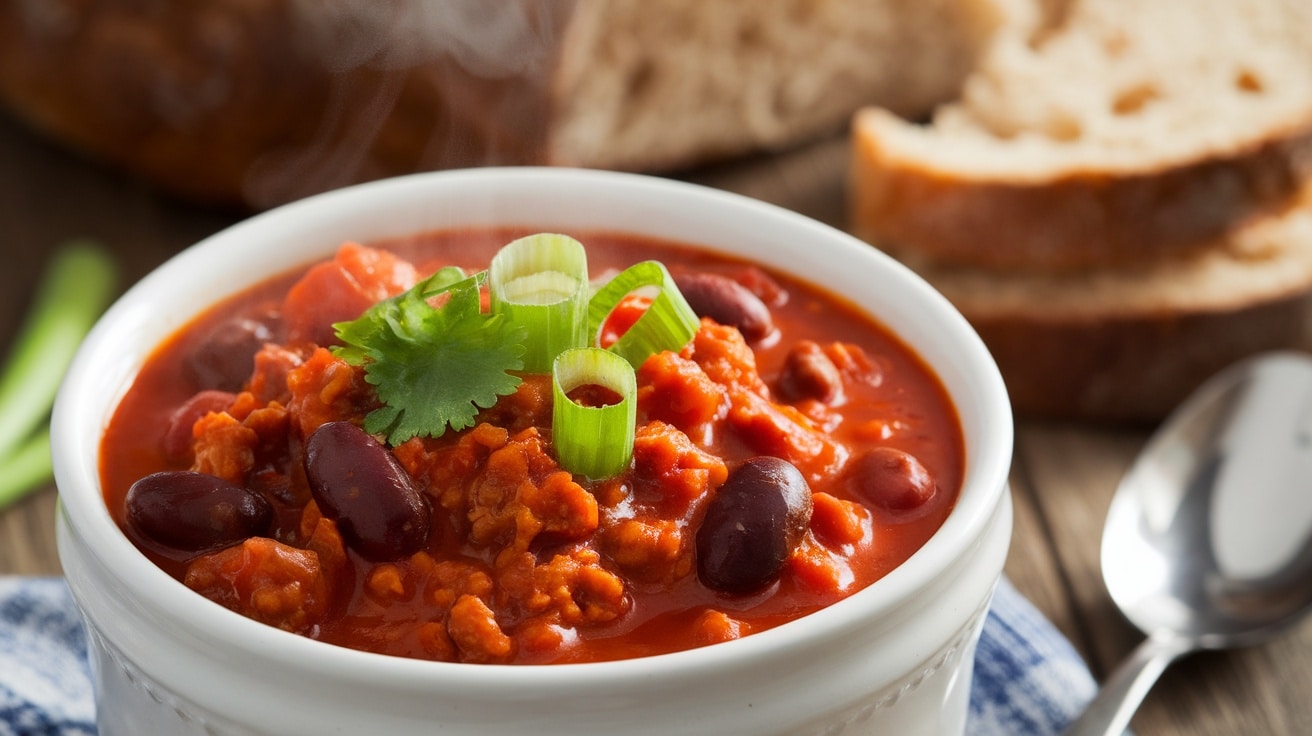
<instances>
[{"instance_id":1,"label":"stack of two crusty bread slices right of the bowl","mask_svg":"<svg viewBox=\"0 0 1312 736\"><path fill-rule=\"evenodd\" d=\"M851 230L962 311L1022 416L1153 421L1308 346L1312 3L1046 9L929 125L855 117Z\"/></svg>"}]
</instances>

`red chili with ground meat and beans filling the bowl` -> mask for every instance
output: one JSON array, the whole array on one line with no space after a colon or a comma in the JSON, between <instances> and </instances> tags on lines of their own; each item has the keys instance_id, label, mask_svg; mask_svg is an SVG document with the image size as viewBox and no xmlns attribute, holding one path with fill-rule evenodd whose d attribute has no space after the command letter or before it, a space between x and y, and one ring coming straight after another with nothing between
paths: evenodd
<instances>
[{"instance_id":1,"label":"red chili with ground meat and beans filling the bowl","mask_svg":"<svg viewBox=\"0 0 1312 736\"><path fill-rule=\"evenodd\" d=\"M438 266L480 270L518 235L348 244L181 329L146 362L105 433L105 497L129 538L201 594L304 636L405 657L542 664L672 652L778 626L870 585L943 523L962 484L960 425L896 336L786 274L592 232L576 236L593 277L648 258L681 283L727 277L765 306L764 328L698 310L682 352L638 369L632 466L604 481L556 464L550 377L523 377L474 428L387 449L430 514L416 551L388 555L386 534L382 551L353 541L366 533L344 534L348 525L377 520L329 518L304 447L327 422L359 425L379 400L362 369L325 349L329 325ZM686 293L694 308L706 302L695 286ZM756 518L761 474L743 468L762 457L799 471L806 514ZM129 488L161 471L203 475L143 483L130 513ZM748 505L708 512L733 485ZM708 513L718 529L764 525L775 543L786 538L777 569L745 590L718 581L740 571L699 559L716 543L699 539ZM781 537L787 523L795 529Z\"/></svg>"}]
</instances>

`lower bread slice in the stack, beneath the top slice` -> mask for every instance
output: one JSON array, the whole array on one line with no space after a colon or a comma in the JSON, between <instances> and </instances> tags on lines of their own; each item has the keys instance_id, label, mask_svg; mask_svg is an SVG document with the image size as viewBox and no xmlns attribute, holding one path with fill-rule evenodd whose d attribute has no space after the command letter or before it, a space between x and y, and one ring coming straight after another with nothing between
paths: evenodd
<instances>
[{"instance_id":1,"label":"lower bread slice in the stack, beneath the top slice","mask_svg":"<svg viewBox=\"0 0 1312 736\"><path fill-rule=\"evenodd\" d=\"M1187 255L1072 273L905 261L988 345L1025 416L1153 421L1246 356L1312 348L1312 181Z\"/></svg>"}]
</instances>

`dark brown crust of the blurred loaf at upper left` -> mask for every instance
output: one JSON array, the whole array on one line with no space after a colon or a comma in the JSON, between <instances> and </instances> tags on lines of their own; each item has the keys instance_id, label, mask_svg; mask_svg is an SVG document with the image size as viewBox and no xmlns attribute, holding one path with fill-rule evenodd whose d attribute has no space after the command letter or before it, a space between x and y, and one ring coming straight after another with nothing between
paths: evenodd
<instances>
[{"instance_id":1,"label":"dark brown crust of the blurred loaf at upper left","mask_svg":"<svg viewBox=\"0 0 1312 736\"><path fill-rule=\"evenodd\" d=\"M426 168L544 159L550 63L488 76L449 54L396 58L382 37L405 17L367 16L370 4L314 28L289 1L58 5L0 5L0 101L189 199L262 209ZM543 38L572 12L514 7Z\"/></svg>"}]
</instances>

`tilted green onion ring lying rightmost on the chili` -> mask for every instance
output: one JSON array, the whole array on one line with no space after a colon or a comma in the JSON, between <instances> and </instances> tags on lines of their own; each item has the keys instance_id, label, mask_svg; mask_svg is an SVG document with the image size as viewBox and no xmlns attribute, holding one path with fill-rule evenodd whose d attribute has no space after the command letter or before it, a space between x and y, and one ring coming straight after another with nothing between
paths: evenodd
<instances>
[{"instance_id":1,"label":"tilted green onion ring lying rightmost on the chili","mask_svg":"<svg viewBox=\"0 0 1312 736\"><path fill-rule=\"evenodd\" d=\"M684 294L674 285L674 277L660 261L642 261L619 272L602 286L588 304L588 335L596 340L601 327L617 306L634 291L656 287L651 307L638 317L610 350L623 357L634 367L661 350L682 350L697 333L697 312L687 306Z\"/></svg>"}]
</instances>

